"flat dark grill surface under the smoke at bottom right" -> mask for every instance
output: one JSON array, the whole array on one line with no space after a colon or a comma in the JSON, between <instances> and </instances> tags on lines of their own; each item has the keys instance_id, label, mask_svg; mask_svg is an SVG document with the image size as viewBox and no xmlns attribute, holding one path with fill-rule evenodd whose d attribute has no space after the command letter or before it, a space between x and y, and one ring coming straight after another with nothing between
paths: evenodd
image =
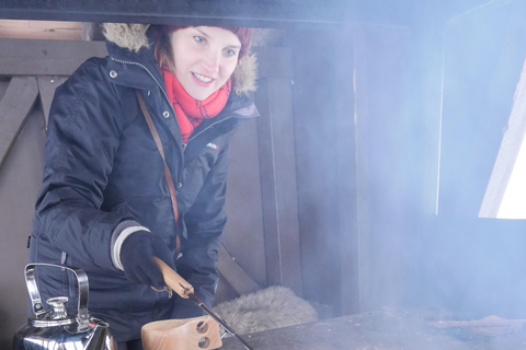
<instances>
[{"instance_id":1,"label":"flat dark grill surface under the smoke at bottom right","mask_svg":"<svg viewBox=\"0 0 526 350\"><path fill-rule=\"evenodd\" d=\"M369 313L324 319L318 323L273 329L244 339L255 350L498 350L524 349L526 332L511 329L495 337L465 329L437 329L427 312ZM236 339L224 339L221 349L242 350Z\"/></svg>"}]
</instances>

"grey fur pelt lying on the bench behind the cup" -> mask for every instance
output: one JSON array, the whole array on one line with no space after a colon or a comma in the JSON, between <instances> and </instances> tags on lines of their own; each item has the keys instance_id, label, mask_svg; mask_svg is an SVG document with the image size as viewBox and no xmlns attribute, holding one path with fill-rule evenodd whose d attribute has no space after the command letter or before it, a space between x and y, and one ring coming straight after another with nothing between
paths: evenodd
<instances>
[{"instance_id":1,"label":"grey fur pelt lying on the bench behind the cup","mask_svg":"<svg viewBox=\"0 0 526 350\"><path fill-rule=\"evenodd\" d=\"M213 310L240 335L318 319L315 307L286 287L270 287L244 294Z\"/></svg>"}]
</instances>

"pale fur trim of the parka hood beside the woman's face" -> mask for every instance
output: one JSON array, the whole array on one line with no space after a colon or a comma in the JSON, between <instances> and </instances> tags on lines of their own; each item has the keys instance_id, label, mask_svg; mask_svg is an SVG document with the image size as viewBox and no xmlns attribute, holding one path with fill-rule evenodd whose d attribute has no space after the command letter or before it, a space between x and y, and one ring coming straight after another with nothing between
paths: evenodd
<instances>
[{"instance_id":1,"label":"pale fur trim of the parka hood beside the woman's face","mask_svg":"<svg viewBox=\"0 0 526 350\"><path fill-rule=\"evenodd\" d=\"M104 23L102 32L107 40L130 51L139 51L149 47L147 30L149 24ZM250 51L238 62L233 71L235 91L237 94L247 94L256 90L258 60Z\"/></svg>"}]
</instances>

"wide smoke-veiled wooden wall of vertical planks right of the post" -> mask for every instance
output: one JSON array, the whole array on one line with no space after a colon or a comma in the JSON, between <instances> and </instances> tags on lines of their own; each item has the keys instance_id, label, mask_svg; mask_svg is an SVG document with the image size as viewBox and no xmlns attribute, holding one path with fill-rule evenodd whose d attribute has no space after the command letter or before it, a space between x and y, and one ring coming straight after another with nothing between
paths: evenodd
<instances>
[{"instance_id":1,"label":"wide smoke-veiled wooden wall of vertical planks right of the post","mask_svg":"<svg viewBox=\"0 0 526 350\"><path fill-rule=\"evenodd\" d=\"M397 201L409 186L400 141L410 32L347 25L293 38L305 296L330 301L336 314L395 303L403 294L405 205Z\"/></svg>"}]
</instances>

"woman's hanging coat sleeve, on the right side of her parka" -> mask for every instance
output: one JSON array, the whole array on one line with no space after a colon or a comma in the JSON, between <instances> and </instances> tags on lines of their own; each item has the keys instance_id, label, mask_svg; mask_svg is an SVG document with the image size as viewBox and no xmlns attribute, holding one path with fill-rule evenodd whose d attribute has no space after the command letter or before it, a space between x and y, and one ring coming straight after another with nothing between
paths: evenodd
<instances>
[{"instance_id":1,"label":"woman's hanging coat sleeve, on the right side of her parka","mask_svg":"<svg viewBox=\"0 0 526 350\"><path fill-rule=\"evenodd\" d=\"M219 273L216 269L225 213L228 175L228 143L206 176L196 201L184 217L187 241L182 257L178 259L178 272L193 287L197 298L207 306L214 303ZM203 312L185 299L176 300L173 318L194 317Z\"/></svg>"}]
</instances>

